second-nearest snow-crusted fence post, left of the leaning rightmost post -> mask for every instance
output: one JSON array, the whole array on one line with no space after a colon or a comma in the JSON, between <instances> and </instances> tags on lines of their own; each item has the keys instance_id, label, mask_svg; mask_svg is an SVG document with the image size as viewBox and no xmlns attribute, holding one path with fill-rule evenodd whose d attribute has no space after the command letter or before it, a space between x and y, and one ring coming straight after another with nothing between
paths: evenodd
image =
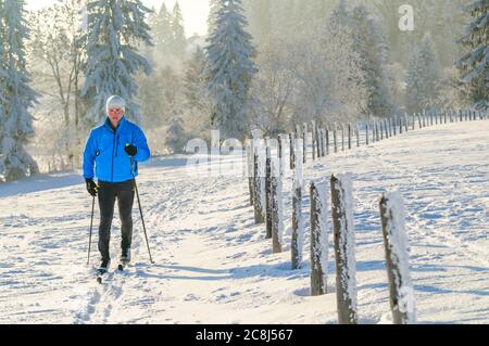
<instances>
[{"instance_id":1,"label":"second-nearest snow-crusted fence post, left of the leaning rightmost post","mask_svg":"<svg viewBox=\"0 0 489 346\"><path fill-rule=\"evenodd\" d=\"M356 261L350 175L331 176L330 188L338 321L340 324L356 324Z\"/></svg>"}]
</instances>

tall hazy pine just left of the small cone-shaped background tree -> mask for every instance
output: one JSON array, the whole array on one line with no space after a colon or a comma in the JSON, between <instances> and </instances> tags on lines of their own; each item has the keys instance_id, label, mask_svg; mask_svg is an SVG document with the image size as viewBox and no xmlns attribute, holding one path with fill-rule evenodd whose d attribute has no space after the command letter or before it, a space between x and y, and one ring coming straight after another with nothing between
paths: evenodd
<instances>
[{"instance_id":1,"label":"tall hazy pine just left of the small cone-shaped background tree","mask_svg":"<svg viewBox=\"0 0 489 346\"><path fill-rule=\"evenodd\" d=\"M367 114L391 116L392 77L389 75L389 48L380 25L364 5L353 9L354 48L362 60L368 91Z\"/></svg>"}]
</instances>

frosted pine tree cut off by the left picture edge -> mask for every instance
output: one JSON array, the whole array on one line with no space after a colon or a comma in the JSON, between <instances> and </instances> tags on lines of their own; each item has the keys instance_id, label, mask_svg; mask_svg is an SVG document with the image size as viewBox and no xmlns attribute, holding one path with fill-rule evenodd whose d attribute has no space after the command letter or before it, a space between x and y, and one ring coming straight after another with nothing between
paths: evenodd
<instances>
[{"instance_id":1,"label":"frosted pine tree cut off by the left picture edge","mask_svg":"<svg viewBox=\"0 0 489 346\"><path fill-rule=\"evenodd\" d=\"M38 172L33 157L26 152L34 133L29 108L37 103L37 93L29 87L26 71L24 1L0 2L0 179L12 181Z\"/></svg>"}]
</instances>

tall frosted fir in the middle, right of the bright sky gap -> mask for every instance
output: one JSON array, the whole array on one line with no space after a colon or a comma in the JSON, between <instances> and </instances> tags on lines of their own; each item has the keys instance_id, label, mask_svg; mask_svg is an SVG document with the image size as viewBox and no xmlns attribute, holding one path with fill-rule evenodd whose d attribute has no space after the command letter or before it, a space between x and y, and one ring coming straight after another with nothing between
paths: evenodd
<instances>
[{"instance_id":1,"label":"tall frosted fir in the middle, right of the bright sky gap","mask_svg":"<svg viewBox=\"0 0 489 346\"><path fill-rule=\"evenodd\" d=\"M256 67L242 12L241 0L221 0L214 30L208 38L211 117L222 138L242 138L249 125L250 85Z\"/></svg>"}]
</instances>

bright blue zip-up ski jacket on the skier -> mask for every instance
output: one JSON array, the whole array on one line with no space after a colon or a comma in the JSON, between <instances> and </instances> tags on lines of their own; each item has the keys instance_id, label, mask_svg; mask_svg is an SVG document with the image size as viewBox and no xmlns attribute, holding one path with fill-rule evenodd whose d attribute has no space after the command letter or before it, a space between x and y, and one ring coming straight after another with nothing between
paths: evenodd
<instances>
[{"instance_id":1,"label":"bright blue zip-up ski jacket on the skier","mask_svg":"<svg viewBox=\"0 0 489 346\"><path fill-rule=\"evenodd\" d=\"M129 155L124 151L127 145L137 148L134 156L134 176ZM122 118L115 131L109 118L90 131L84 152L84 178L105 182L123 182L138 175L138 163L145 162L151 153L142 130L135 124ZM95 166L95 175L93 175Z\"/></svg>"}]
</instances>

